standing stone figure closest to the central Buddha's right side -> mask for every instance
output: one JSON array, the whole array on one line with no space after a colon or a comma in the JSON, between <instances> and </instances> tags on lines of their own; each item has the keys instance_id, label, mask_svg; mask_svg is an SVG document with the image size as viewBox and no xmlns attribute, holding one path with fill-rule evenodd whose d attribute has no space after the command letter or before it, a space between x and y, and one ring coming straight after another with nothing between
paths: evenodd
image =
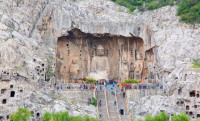
<instances>
[{"instance_id":1,"label":"standing stone figure closest to the central Buddha's right side","mask_svg":"<svg viewBox=\"0 0 200 121\"><path fill-rule=\"evenodd\" d=\"M128 59L127 57L124 57L123 58L123 61L122 61L122 66L121 66L121 80L124 81L124 80L127 80L128 79Z\"/></svg>"}]
</instances>

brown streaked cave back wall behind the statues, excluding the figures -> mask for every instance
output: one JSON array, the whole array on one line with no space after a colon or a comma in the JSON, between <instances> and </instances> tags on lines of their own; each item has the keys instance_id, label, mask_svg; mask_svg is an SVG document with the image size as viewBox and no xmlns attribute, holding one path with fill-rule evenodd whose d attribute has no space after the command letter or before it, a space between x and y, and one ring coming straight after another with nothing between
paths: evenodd
<instances>
[{"instance_id":1,"label":"brown streaked cave back wall behind the statues, excluding the figures","mask_svg":"<svg viewBox=\"0 0 200 121\"><path fill-rule=\"evenodd\" d=\"M79 29L68 31L67 36L61 36L57 40L56 49L56 69L55 75L60 80L71 80L70 66L74 58L78 59L78 76L77 79L84 79L90 75L91 63L93 57L97 56L97 48L102 45L104 48L105 58L109 62L109 80L122 80L130 77L131 63L137 61L137 54L141 54L143 63L145 56L144 42L139 37L124 37L119 35L91 34L84 33ZM151 53L151 52L149 52ZM152 53L151 53L152 54ZM127 64L125 63L127 59ZM120 72L121 68L125 69L124 75ZM143 66L144 67L144 66ZM133 67L133 71L134 72ZM142 79L148 70L142 69ZM124 77L123 77L124 76Z\"/></svg>"}]
</instances>

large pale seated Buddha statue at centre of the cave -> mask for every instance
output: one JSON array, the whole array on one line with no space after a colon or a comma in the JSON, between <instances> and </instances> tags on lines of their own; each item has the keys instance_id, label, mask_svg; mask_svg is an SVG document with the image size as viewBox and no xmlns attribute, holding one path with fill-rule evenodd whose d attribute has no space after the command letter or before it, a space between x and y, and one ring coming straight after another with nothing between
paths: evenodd
<instances>
[{"instance_id":1,"label":"large pale seated Buddha statue at centre of the cave","mask_svg":"<svg viewBox=\"0 0 200 121\"><path fill-rule=\"evenodd\" d=\"M102 45L97 47L96 56L92 58L90 78L96 80L108 80L110 74L110 66L108 58L104 56L104 48Z\"/></svg>"}]
</instances>

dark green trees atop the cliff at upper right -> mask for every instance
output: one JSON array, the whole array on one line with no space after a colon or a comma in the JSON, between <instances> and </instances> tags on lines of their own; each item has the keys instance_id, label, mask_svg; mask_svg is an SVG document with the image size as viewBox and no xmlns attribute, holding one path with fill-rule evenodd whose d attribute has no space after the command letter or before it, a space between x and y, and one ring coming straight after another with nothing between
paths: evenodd
<instances>
[{"instance_id":1,"label":"dark green trees atop the cliff at upper right","mask_svg":"<svg viewBox=\"0 0 200 121\"><path fill-rule=\"evenodd\" d=\"M112 0L127 7L130 11L154 10L163 6L178 5L177 15L180 21L190 24L200 23L200 0Z\"/></svg>"}]
</instances>

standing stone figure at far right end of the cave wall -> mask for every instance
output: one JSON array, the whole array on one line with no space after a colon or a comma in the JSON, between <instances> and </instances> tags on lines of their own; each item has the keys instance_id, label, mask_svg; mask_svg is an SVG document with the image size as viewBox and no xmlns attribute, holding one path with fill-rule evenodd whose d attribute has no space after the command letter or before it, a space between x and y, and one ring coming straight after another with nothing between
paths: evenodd
<instances>
[{"instance_id":1,"label":"standing stone figure at far right end of the cave wall","mask_svg":"<svg viewBox=\"0 0 200 121\"><path fill-rule=\"evenodd\" d=\"M143 69L143 60L141 57L140 52L137 53L136 56L136 62L135 62L135 79L136 80L142 80L142 69Z\"/></svg>"}]
</instances>

